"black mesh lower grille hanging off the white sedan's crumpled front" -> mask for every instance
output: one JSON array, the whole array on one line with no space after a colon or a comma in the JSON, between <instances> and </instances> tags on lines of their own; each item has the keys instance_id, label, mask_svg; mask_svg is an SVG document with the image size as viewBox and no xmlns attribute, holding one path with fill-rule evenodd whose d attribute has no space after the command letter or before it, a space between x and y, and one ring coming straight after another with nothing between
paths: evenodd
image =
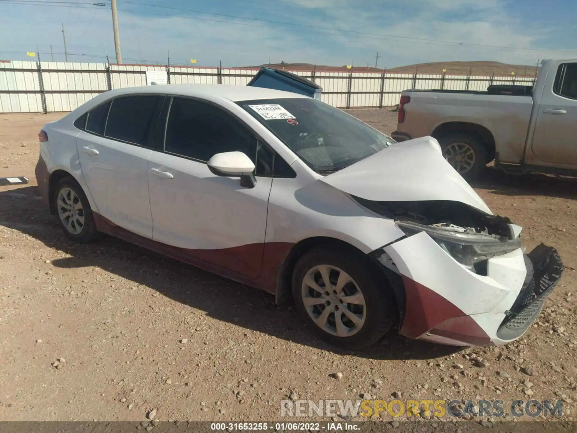
<instances>
[{"instance_id":1,"label":"black mesh lower grille hanging off the white sedan's crumpled front","mask_svg":"<svg viewBox=\"0 0 577 433\"><path fill-rule=\"evenodd\" d=\"M563 262L556 249L539 245L525 256L527 277L497 337L510 340L520 337L537 319L545 300L563 275Z\"/></svg>"}]
</instances>

